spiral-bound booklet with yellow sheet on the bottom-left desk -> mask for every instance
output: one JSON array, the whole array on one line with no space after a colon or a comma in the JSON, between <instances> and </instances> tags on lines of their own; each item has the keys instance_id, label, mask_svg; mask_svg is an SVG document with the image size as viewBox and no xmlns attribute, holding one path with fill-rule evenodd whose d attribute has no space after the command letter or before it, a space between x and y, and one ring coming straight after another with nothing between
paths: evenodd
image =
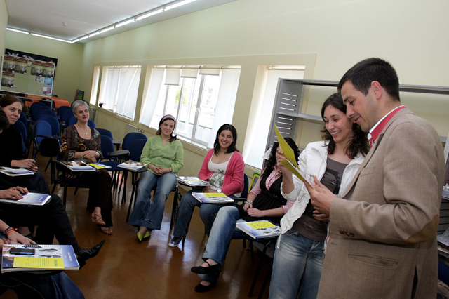
<instances>
[{"instance_id":1,"label":"spiral-bound booklet with yellow sheet on the bottom-left desk","mask_svg":"<svg viewBox=\"0 0 449 299\"><path fill-rule=\"evenodd\" d=\"M72 245L4 244L1 273L43 270L79 270Z\"/></svg>"}]
</instances>

